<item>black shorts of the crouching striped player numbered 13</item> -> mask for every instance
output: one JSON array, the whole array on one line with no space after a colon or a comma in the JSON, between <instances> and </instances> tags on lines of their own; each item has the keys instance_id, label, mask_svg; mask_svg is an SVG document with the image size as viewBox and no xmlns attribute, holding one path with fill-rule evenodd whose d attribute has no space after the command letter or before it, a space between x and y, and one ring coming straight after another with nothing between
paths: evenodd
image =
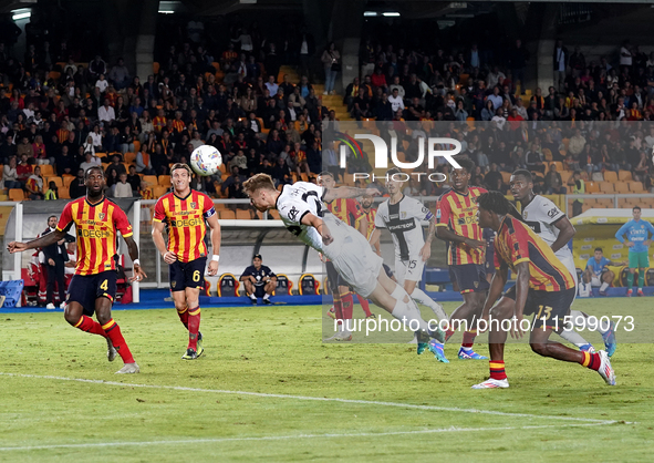
<instances>
[{"instance_id":1,"label":"black shorts of the crouching striped player numbered 13","mask_svg":"<svg viewBox=\"0 0 654 463\"><path fill-rule=\"evenodd\" d=\"M570 306L574 300L577 288L563 291L538 291L529 288L527 302L522 315L533 315L532 328L542 328L543 317L548 328L563 328L563 317L570 313ZM516 285L510 287L505 297L516 300Z\"/></svg>"}]
</instances>

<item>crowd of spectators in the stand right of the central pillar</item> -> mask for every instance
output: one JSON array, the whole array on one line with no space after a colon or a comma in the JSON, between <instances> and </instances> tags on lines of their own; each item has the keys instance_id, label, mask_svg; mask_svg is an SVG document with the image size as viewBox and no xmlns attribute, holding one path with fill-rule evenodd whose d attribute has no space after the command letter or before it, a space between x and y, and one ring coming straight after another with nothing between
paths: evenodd
<instances>
[{"instance_id":1,"label":"crowd of spectators in the stand right of the central pillar","mask_svg":"<svg viewBox=\"0 0 654 463\"><path fill-rule=\"evenodd\" d=\"M654 121L654 52L624 41L614 60L592 61L557 40L552 85L544 91L526 89L525 69L533 59L520 40L502 65L477 44L432 54L367 40L360 53L363 78L346 86L343 103L357 121L390 121L397 133L412 121L487 122L486 134L470 132L476 140L467 140L482 175L492 164L544 175L548 161L558 161L589 176L627 169L650 188L654 132L643 122ZM543 189L565 187L554 182Z\"/></svg>"}]
</instances>

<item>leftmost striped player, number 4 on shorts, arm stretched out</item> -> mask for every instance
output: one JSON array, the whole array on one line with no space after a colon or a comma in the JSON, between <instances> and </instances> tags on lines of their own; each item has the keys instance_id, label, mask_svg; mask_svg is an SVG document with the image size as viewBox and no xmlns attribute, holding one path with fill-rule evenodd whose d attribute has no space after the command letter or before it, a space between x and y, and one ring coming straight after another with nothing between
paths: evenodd
<instances>
[{"instance_id":1,"label":"leftmost striped player, number 4 on shorts, arm stretched out","mask_svg":"<svg viewBox=\"0 0 654 463\"><path fill-rule=\"evenodd\" d=\"M125 366L117 373L138 373L138 364L112 318L112 303L116 295L116 238L117 232L129 249L134 261L134 276L129 281L147 278L138 263L138 247L133 238L127 216L115 203L104 197L105 178L100 167L89 167L84 173L86 196L72 200L63 209L56 230L29 243L12 241L10 253L42 248L62 239L73 224L77 229L77 264L69 287L65 320L82 331L106 338L108 361L116 352ZM95 312L97 321L91 317Z\"/></svg>"}]
</instances>

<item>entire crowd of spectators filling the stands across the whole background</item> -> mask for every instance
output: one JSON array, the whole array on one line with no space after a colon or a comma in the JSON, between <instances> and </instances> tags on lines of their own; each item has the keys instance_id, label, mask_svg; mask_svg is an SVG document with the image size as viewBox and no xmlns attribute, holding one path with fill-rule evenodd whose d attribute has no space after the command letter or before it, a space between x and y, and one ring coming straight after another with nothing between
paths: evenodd
<instances>
[{"instance_id":1,"label":"entire crowd of spectators filling the stands across the whole background","mask_svg":"<svg viewBox=\"0 0 654 463\"><path fill-rule=\"evenodd\" d=\"M22 188L32 199L58 198L58 184L39 172L49 165L74 178L69 193L77 197L84 168L101 165L108 195L153 198L142 176L167 175L203 143L222 153L226 174L193 186L215 197L243 198L242 182L255 173L270 174L278 185L313 179L323 165L321 122L338 127L338 121L311 83L311 62L323 64L330 93L339 50L330 43L316 52L304 27L278 48L256 23L233 27L224 48L209 50L190 24L184 41L157 53L156 72L143 80L120 58L75 61L65 41L30 43L24 56L0 43L3 187ZM631 171L650 188L654 130L644 121L654 119L654 54L625 41L615 62L586 62L579 48L570 53L558 41L552 58L552 85L529 92L522 80L534 58L519 40L501 65L477 44L432 54L364 41L362 78L346 86L343 101L355 119L386 121L385 135L409 144L417 135L406 135L403 124L455 123L448 130L437 124L437 132L461 141L477 164L477 184L497 184L501 172L523 166L542 175L543 192L564 193L550 167L560 162L589 177ZM299 81L278 78L288 62L299 66ZM489 124L466 130L470 120ZM341 175L334 146L324 154ZM407 187L435 193L417 181Z\"/></svg>"}]
</instances>

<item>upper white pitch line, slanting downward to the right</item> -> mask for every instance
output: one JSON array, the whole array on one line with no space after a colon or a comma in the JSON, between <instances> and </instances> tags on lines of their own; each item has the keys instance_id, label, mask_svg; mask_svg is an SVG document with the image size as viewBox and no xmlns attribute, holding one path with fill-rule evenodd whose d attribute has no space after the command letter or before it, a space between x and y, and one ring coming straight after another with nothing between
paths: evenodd
<instances>
[{"instance_id":1,"label":"upper white pitch line, slanting downward to the right","mask_svg":"<svg viewBox=\"0 0 654 463\"><path fill-rule=\"evenodd\" d=\"M117 381L87 380L87 379L83 379L83 378L65 378L65 377L40 375L40 374L21 374L21 373L0 372L0 375L1 377L35 378L35 379L45 379L45 380L86 382L86 383L92 383L92 384L117 385L121 388L166 389L166 390L173 390L173 391L209 392L209 393L217 393L217 394L252 395L252 397L274 398L274 399L311 400L311 401L316 401L316 402L359 403L359 404L363 404L363 405L397 407L397 408L403 408L403 409L432 410L432 411L457 412L457 413L481 413L481 414L491 414L491 415L498 415L498 416L531 418L531 419L538 419L538 420L579 421L579 422L596 423L596 424L613 424L616 422L615 420L596 420L596 419L592 419L592 418L556 416L556 415L540 415L540 414L530 414L530 413L511 413L511 412L498 412L495 410L459 409L457 407L438 407L438 405L417 405L417 404L413 404L413 403L381 402L381 401L375 401L375 400L320 398L320 397L310 397L310 395L273 394L273 393L248 392L248 391L226 391L226 390L220 390L220 389L187 388L184 385L136 384L136 383L117 382Z\"/></svg>"}]
</instances>

